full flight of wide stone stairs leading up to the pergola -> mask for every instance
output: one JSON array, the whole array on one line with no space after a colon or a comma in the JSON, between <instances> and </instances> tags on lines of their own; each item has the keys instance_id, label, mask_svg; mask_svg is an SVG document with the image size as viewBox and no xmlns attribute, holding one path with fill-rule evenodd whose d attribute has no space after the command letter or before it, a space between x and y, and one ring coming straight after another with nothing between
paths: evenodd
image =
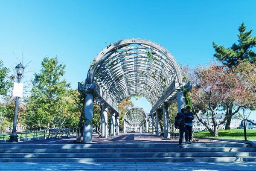
<instances>
[{"instance_id":1,"label":"full flight of wide stone stairs leading up to the pergola","mask_svg":"<svg viewBox=\"0 0 256 171\"><path fill-rule=\"evenodd\" d=\"M241 143L0 144L0 162L229 162L256 161L256 148Z\"/></svg>"}]
</instances>

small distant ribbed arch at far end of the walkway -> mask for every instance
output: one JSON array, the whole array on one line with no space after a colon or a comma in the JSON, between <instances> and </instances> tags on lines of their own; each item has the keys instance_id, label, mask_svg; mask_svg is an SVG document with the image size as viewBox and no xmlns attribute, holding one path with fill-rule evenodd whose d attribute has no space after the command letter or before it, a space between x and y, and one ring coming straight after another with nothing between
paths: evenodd
<instances>
[{"instance_id":1,"label":"small distant ribbed arch at far end of the walkway","mask_svg":"<svg viewBox=\"0 0 256 171\"><path fill-rule=\"evenodd\" d=\"M142 123L145 118L148 118L148 115L141 107L132 107L125 112L124 116L125 121L129 122L130 124L132 124L132 122L136 119Z\"/></svg>"}]
</instances>

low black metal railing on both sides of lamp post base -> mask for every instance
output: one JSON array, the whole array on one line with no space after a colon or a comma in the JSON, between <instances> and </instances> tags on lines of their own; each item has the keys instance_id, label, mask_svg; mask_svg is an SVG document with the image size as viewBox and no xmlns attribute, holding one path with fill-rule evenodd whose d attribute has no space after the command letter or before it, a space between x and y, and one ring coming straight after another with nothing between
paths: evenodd
<instances>
[{"instance_id":1,"label":"low black metal railing on both sides of lamp post base","mask_svg":"<svg viewBox=\"0 0 256 171\"><path fill-rule=\"evenodd\" d=\"M18 138L36 138L36 137L45 137L47 134L47 129L46 130L26 130L26 131L21 131L17 132ZM12 133L5 133L5 134L0 134L0 139L9 139L9 136Z\"/></svg>"}]
</instances>

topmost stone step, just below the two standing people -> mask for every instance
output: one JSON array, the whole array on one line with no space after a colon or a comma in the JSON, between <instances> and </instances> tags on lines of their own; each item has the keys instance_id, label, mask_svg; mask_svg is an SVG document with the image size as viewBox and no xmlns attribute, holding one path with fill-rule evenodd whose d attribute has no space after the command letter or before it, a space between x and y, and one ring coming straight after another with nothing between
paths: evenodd
<instances>
[{"instance_id":1,"label":"topmost stone step, just below the two standing people","mask_svg":"<svg viewBox=\"0 0 256 171\"><path fill-rule=\"evenodd\" d=\"M243 143L192 143L184 144L185 147L251 147ZM0 148L174 148L176 143L165 144L0 144Z\"/></svg>"}]
</instances>

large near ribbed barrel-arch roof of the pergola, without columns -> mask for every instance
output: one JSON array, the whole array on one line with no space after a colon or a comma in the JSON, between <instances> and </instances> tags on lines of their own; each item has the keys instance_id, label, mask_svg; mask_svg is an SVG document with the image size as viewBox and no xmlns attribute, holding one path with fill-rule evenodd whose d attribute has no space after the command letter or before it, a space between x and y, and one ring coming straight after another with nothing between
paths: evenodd
<instances>
[{"instance_id":1,"label":"large near ribbed barrel-arch roof of the pergola, without columns","mask_svg":"<svg viewBox=\"0 0 256 171\"><path fill-rule=\"evenodd\" d=\"M144 39L107 46L94 58L87 75L87 84L96 83L117 106L127 96L141 95L153 107L173 82L182 82L175 58Z\"/></svg>"}]
</instances>

